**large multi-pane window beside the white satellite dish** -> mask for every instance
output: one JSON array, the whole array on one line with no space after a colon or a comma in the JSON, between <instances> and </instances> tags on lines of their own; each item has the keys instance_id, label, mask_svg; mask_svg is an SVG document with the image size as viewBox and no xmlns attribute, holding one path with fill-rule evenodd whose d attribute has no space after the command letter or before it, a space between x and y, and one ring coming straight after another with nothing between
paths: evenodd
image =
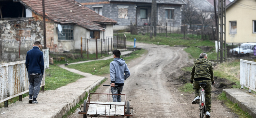
<instances>
[{"instance_id":1,"label":"large multi-pane window beside the white satellite dish","mask_svg":"<svg viewBox=\"0 0 256 118\"><path fill-rule=\"evenodd\" d=\"M62 31L58 31L58 40L73 40L73 25L61 25Z\"/></svg>"}]
</instances>

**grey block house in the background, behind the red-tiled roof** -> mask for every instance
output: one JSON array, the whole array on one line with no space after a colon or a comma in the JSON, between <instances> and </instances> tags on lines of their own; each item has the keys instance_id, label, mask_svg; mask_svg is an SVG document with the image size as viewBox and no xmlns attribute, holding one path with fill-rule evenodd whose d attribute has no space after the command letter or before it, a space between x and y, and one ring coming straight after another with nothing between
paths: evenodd
<instances>
[{"instance_id":1,"label":"grey block house in the background, behind the red-tiled roof","mask_svg":"<svg viewBox=\"0 0 256 118\"><path fill-rule=\"evenodd\" d=\"M152 0L76 0L91 10L117 21L114 30L130 28L131 21L143 26L151 21ZM183 0L157 0L157 24L165 26L181 25L181 6Z\"/></svg>"}]
</instances>

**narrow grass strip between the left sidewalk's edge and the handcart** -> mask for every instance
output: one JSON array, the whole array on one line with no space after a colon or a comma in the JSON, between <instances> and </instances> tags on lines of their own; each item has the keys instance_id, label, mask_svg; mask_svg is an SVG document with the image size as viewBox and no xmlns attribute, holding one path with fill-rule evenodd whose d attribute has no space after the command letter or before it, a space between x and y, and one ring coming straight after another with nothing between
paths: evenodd
<instances>
[{"instance_id":1,"label":"narrow grass strip between the left sidewalk's edge and the handcart","mask_svg":"<svg viewBox=\"0 0 256 118\"><path fill-rule=\"evenodd\" d=\"M108 79L108 78L103 79L103 80L100 82L100 85L101 85L102 83L104 83L107 79ZM93 92L93 93L96 92L96 90L100 87L100 85L95 86L95 88L93 88L93 90L91 90L90 92ZM68 113L66 113L65 115L62 116L62 118L67 118L68 115L70 115L70 114L72 114L72 113L75 113L75 112L76 112L76 109L79 108L79 107L81 107L81 104L84 104L84 100L87 100L87 97L88 97L88 93L86 92L86 94L85 94L83 100L81 100L79 103L77 103L75 107L71 108L70 111L68 111ZM82 114L81 114L81 115L82 115Z\"/></svg>"}]
</instances>

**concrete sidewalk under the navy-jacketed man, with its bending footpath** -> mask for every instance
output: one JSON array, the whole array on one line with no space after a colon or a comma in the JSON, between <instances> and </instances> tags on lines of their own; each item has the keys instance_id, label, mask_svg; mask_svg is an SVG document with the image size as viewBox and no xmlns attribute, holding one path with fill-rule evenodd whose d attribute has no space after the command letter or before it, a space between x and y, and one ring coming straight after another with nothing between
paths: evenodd
<instances>
[{"instance_id":1,"label":"concrete sidewalk under the navy-jacketed man, with its bending footpath","mask_svg":"<svg viewBox=\"0 0 256 118\"><path fill-rule=\"evenodd\" d=\"M127 55L130 53L132 53L132 51L124 51L121 52L121 55ZM113 56L108 56L98 60L107 60L111 58L113 58ZM0 118L61 118L84 98L86 92L89 92L96 85L99 85L105 78L75 69L69 69L64 65L61 65L60 67L76 74L83 75L84 78L80 78L76 82L62 86L56 90L40 91L37 98L38 104L28 103L29 96L27 96L22 99L23 101L17 101L10 104L7 108L3 107L0 109Z\"/></svg>"}]
</instances>

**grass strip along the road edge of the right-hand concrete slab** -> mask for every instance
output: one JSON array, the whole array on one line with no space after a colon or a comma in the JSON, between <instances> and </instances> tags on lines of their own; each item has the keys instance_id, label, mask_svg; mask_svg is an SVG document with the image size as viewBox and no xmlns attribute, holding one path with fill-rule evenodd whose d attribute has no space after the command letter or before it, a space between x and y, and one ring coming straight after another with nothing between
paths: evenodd
<instances>
[{"instance_id":1,"label":"grass strip along the road edge of the right-hand concrete slab","mask_svg":"<svg viewBox=\"0 0 256 118\"><path fill-rule=\"evenodd\" d=\"M252 118L248 112L244 112L241 107L239 107L237 104L233 103L230 101L227 97L225 92L222 92L219 96L218 99L223 101L229 109L232 110L235 114L239 116L239 118Z\"/></svg>"}]
</instances>

